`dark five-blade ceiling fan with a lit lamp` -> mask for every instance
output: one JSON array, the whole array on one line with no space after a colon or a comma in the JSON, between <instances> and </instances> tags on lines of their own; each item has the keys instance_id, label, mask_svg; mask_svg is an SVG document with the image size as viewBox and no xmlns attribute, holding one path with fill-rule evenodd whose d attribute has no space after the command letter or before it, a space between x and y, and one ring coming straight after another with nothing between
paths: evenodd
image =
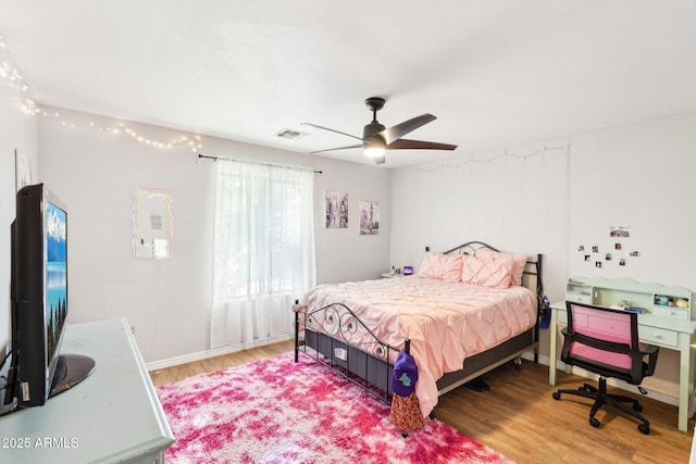
<instances>
[{"instance_id":1,"label":"dark five-blade ceiling fan with a lit lamp","mask_svg":"<svg viewBox=\"0 0 696 464\"><path fill-rule=\"evenodd\" d=\"M362 137L341 133L340 130L330 129L328 127L319 126L316 124L301 123L306 126L316 127L318 129L328 130L336 134L343 134L345 136L360 140L360 143L312 151L307 154L322 153L325 151L346 150L349 148L362 148L364 154L374 159L374 162L376 164L384 164L384 162L386 161L386 150L453 150L457 148L456 145L409 140L401 138L410 131L415 130L432 121L435 121L436 117L432 114L425 113L397 124L396 126L386 128L377 121L377 111L382 110L384 103L385 100L380 97L370 97L365 100L368 110L372 111L372 122L362 129Z\"/></svg>"}]
</instances>

